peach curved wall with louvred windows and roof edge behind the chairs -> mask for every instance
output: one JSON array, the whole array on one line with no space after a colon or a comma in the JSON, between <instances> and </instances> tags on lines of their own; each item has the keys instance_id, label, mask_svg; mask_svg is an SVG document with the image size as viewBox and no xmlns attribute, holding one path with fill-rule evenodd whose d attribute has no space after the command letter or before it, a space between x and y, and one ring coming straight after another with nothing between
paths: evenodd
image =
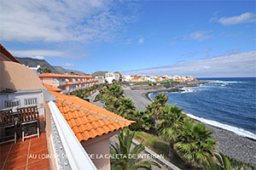
<instances>
[{"instance_id":1,"label":"peach curved wall with louvred windows and roof edge behind the chairs","mask_svg":"<svg viewBox=\"0 0 256 170\"><path fill-rule=\"evenodd\" d=\"M43 86L38 76L1 45L0 109L37 105L44 115ZM25 76L26 75L26 76Z\"/></svg>"}]
</instances>

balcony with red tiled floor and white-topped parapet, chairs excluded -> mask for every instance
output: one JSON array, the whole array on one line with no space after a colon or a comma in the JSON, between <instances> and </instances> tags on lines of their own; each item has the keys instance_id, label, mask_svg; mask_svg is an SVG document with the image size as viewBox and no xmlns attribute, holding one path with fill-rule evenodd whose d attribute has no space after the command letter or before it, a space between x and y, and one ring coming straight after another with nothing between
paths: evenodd
<instances>
[{"instance_id":1,"label":"balcony with red tiled floor and white-topped parapet, chairs excluded","mask_svg":"<svg viewBox=\"0 0 256 170\"><path fill-rule=\"evenodd\" d=\"M44 89L44 116L40 116L40 136L0 145L2 169L96 169L83 146ZM3 135L1 135L1 138Z\"/></svg>"}]
</instances>

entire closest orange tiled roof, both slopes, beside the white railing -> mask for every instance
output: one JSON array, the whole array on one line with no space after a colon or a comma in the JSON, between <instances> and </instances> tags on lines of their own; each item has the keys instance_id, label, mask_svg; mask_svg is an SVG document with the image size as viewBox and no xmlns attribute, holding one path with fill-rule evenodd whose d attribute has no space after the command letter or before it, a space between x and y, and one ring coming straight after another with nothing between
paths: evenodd
<instances>
[{"instance_id":1,"label":"entire closest orange tiled roof, both slopes, beside the white railing","mask_svg":"<svg viewBox=\"0 0 256 170\"><path fill-rule=\"evenodd\" d=\"M58 100L57 107L79 141L93 139L131 124L131 121L83 99L50 93Z\"/></svg>"}]
</instances>

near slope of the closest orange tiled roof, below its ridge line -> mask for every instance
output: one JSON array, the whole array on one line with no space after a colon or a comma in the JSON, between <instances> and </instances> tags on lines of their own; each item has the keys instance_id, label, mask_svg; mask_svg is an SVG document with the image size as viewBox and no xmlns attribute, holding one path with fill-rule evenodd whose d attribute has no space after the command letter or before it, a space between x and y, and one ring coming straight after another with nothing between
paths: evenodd
<instances>
[{"instance_id":1,"label":"near slope of the closest orange tiled roof, below its ridge line","mask_svg":"<svg viewBox=\"0 0 256 170\"><path fill-rule=\"evenodd\" d=\"M130 122L114 121L113 119L92 114L90 111L85 113L75 107L62 104L61 101L57 101L56 105L68 125L72 128L73 133L79 139L79 142L93 139L130 125Z\"/></svg>"}]
</instances>

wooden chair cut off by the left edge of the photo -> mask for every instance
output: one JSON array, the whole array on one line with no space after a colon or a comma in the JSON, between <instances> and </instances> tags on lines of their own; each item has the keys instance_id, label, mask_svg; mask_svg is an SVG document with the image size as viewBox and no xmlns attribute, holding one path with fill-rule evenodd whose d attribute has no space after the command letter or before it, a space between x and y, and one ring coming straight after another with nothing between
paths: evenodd
<instances>
[{"instance_id":1,"label":"wooden chair cut off by the left edge of the photo","mask_svg":"<svg viewBox=\"0 0 256 170\"><path fill-rule=\"evenodd\" d=\"M6 141L0 142L0 144L5 144L8 142L15 141L17 139L17 131L16 131L17 121L15 121L14 112L10 110L1 110L0 111L0 129L4 129L4 135L0 137L0 139L8 139ZM10 139L13 135L6 135L8 130L14 130L14 139Z\"/></svg>"}]
</instances>

